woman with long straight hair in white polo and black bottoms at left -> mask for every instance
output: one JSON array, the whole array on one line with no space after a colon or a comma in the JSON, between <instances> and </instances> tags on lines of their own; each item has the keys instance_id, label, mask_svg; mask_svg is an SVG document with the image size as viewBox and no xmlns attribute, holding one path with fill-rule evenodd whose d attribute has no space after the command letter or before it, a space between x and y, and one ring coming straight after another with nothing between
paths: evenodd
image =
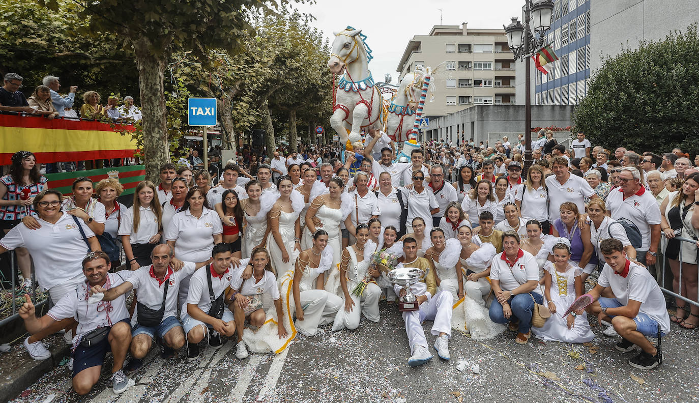
<instances>
[{"instance_id":1,"label":"woman with long straight hair in white polo and black bottoms at left","mask_svg":"<svg viewBox=\"0 0 699 403\"><path fill-rule=\"evenodd\" d=\"M124 211L119 227L124 255L132 270L150 264L150 253L160 243L163 232L160 208L155 185L151 181L138 183L134 205Z\"/></svg>"}]
</instances>

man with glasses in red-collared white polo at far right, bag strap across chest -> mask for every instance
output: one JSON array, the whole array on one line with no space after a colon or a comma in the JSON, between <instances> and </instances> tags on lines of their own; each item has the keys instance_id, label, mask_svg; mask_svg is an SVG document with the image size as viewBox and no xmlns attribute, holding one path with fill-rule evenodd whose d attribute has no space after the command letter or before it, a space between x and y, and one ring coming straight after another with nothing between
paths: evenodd
<instances>
[{"instance_id":1,"label":"man with glasses in red-collared white polo at far right, bag strap across chest","mask_svg":"<svg viewBox=\"0 0 699 403\"><path fill-rule=\"evenodd\" d=\"M653 194L641 185L640 172L624 167L619 173L619 189L607 195L607 215L614 220L626 218L641 232L641 247L636 260L646 267L655 264L660 243L661 212Z\"/></svg>"}]
</instances>

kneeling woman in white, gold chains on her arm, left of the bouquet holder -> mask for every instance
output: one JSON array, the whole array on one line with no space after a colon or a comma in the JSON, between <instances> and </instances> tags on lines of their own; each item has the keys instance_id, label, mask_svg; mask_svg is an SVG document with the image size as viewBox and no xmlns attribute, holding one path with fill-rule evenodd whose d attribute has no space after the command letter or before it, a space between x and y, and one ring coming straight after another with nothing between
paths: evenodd
<instances>
[{"instance_id":1,"label":"kneeling woman in white, gold chains on her arm, left of the bouquet holder","mask_svg":"<svg viewBox=\"0 0 699 403\"><path fill-rule=\"evenodd\" d=\"M328 233L318 229L313 245L303 250L294 269L294 305L296 330L305 336L315 336L319 325L332 323L343 307L343 299L323 289L324 276L333 263L333 249L328 246Z\"/></svg>"}]
</instances>

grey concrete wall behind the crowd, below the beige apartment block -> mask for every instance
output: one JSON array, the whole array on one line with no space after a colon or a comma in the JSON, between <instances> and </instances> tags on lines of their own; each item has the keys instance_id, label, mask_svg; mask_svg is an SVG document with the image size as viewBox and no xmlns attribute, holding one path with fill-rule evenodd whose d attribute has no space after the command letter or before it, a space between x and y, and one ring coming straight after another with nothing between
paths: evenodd
<instances>
[{"instance_id":1,"label":"grey concrete wall behind the crowd, below the beige apartment block","mask_svg":"<svg viewBox=\"0 0 699 403\"><path fill-rule=\"evenodd\" d=\"M571 125L572 105L533 105L532 127L566 127ZM421 139L449 139L460 141L461 132L468 141L486 141L489 133L512 133L510 141L517 141L517 134L524 134L524 105L476 105L440 118L430 120L430 129L424 130Z\"/></svg>"}]
</instances>

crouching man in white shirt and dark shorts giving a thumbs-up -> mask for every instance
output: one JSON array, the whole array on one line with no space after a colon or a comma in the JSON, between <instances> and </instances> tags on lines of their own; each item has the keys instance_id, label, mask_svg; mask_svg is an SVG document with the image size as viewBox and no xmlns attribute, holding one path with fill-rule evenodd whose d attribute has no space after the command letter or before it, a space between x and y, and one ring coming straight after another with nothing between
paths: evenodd
<instances>
[{"instance_id":1,"label":"crouching man in white shirt and dark shorts giving a thumbs-up","mask_svg":"<svg viewBox=\"0 0 699 403\"><path fill-rule=\"evenodd\" d=\"M90 288L100 285L105 290L124 283L119 273L109 273L110 262L101 250L90 252L82 260L82 273L86 280L69 292L41 318L36 318L34 304L29 295L20 308L20 317L31 334L41 332L59 320L75 318L78 329L73 338L73 389L78 395L87 395L99 381L105 355L108 351L114 356L112 367L113 391L123 393L133 383L124 375L122 367L129 344L131 344L131 324L127 311L126 297L121 295L113 301L91 303ZM71 365L69 365L71 367Z\"/></svg>"}]
</instances>

